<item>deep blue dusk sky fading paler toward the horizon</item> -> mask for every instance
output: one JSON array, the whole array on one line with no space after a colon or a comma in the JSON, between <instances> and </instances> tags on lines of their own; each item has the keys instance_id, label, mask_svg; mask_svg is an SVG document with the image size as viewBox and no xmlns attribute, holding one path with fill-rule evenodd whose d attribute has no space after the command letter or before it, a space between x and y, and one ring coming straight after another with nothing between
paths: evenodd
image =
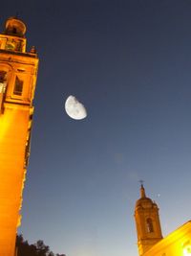
<instances>
[{"instance_id":1,"label":"deep blue dusk sky fading paler toward the horizon","mask_svg":"<svg viewBox=\"0 0 191 256\"><path fill-rule=\"evenodd\" d=\"M163 235L190 219L191 1L54 0L19 13L40 58L19 232L67 256L137 256L138 180ZM69 95L88 110L64 111Z\"/></svg>"}]
</instances>

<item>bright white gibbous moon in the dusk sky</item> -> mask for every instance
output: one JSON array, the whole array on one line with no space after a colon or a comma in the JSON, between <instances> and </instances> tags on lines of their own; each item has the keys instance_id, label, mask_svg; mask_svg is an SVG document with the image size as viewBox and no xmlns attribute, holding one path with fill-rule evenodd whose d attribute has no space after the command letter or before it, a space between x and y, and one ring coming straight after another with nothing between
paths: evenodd
<instances>
[{"instance_id":1,"label":"bright white gibbous moon in the dusk sky","mask_svg":"<svg viewBox=\"0 0 191 256\"><path fill-rule=\"evenodd\" d=\"M67 114L75 120L84 119L87 116L85 106L79 103L73 95L70 95L67 98L65 102L65 110Z\"/></svg>"}]
</instances>

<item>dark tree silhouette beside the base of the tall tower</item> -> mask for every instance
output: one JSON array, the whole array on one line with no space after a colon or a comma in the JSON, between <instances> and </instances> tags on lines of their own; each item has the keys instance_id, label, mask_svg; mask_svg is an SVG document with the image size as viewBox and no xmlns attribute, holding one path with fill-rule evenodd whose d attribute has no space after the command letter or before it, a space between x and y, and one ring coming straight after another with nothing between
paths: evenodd
<instances>
[{"instance_id":1,"label":"dark tree silhouette beside the base of the tall tower","mask_svg":"<svg viewBox=\"0 0 191 256\"><path fill-rule=\"evenodd\" d=\"M17 256L66 256L66 254L53 254L50 247L42 240L38 240L35 244L29 244L22 235L16 236Z\"/></svg>"}]
</instances>

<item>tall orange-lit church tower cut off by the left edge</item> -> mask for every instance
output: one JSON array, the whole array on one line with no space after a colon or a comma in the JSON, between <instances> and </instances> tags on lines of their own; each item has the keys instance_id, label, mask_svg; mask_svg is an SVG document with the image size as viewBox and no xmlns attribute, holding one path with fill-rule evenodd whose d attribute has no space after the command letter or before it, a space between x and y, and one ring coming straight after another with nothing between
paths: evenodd
<instances>
[{"instance_id":1,"label":"tall orange-lit church tower cut off by the left edge","mask_svg":"<svg viewBox=\"0 0 191 256\"><path fill-rule=\"evenodd\" d=\"M38 58L16 17L0 35L0 256L13 256L30 154Z\"/></svg>"}]
</instances>

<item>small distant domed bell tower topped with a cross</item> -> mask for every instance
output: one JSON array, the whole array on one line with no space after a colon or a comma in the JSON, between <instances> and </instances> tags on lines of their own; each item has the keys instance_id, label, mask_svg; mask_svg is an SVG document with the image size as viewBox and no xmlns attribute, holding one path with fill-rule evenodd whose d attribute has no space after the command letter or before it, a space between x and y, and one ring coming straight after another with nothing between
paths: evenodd
<instances>
[{"instance_id":1,"label":"small distant domed bell tower topped with a cross","mask_svg":"<svg viewBox=\"0 0 191 256\"><path fill-rule=\"evenodd\" d=\"M162 239L162 234L158 205L146 197L142 184L140 198L135 207L135 221L138 233L138 253L139 256L143 256L148 249Z\"/></svg>"}]
</instances>

